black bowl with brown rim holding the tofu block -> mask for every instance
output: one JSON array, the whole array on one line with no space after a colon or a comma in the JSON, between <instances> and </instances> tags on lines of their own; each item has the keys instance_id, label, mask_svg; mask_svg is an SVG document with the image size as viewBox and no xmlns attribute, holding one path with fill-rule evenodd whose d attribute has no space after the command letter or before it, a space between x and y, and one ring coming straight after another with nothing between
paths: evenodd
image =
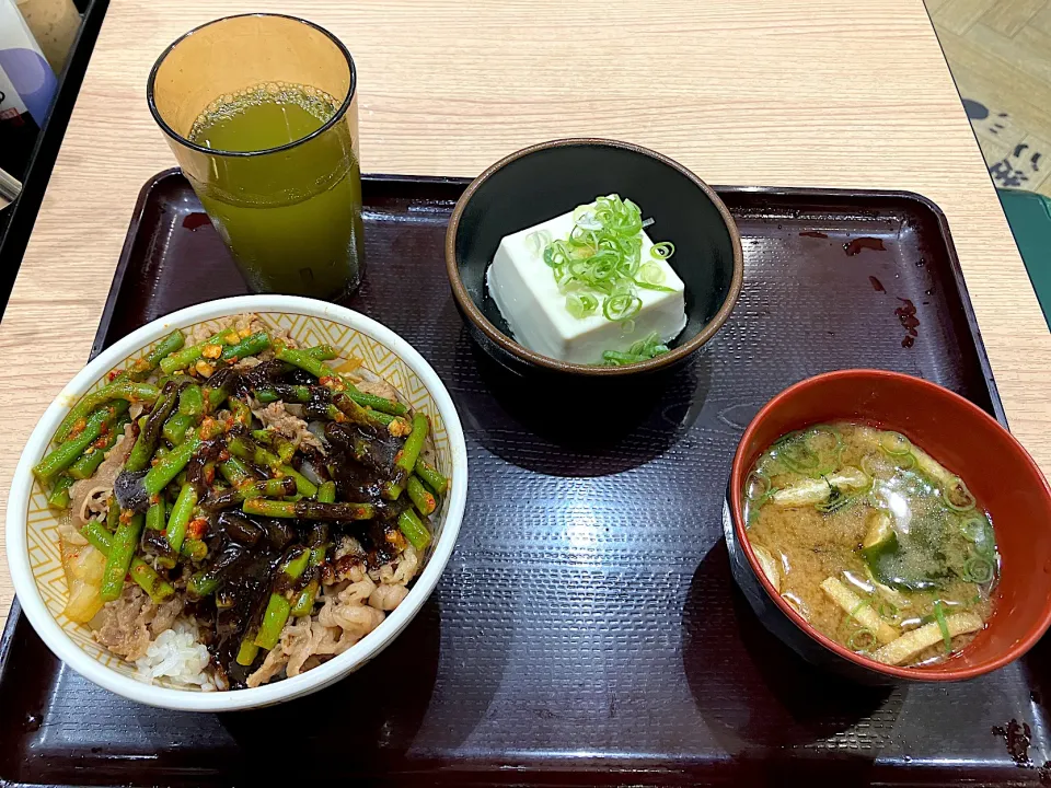
<instances>
[{"instance_id":1,"label":"black bowl with brown rim holding the tofu block","mask_svg":"<svg viewBox=\"0 0 1051 788\"><path fill-rule=\"evenodd\" d=\"M654 243L671 241L670 265L686 287L686 327L668 354L623 367L567 363L511 338L485 287L500 240L599 195L619 194L655 223ZM566 139L512 153L472 182L446 232L446 266L457 306L482 348L517 372L545 370L591 378L623 376L682 363L729 317L741 292L741 236L723 200L671 159L628 142Z\"/></svg>"}]
</instances>

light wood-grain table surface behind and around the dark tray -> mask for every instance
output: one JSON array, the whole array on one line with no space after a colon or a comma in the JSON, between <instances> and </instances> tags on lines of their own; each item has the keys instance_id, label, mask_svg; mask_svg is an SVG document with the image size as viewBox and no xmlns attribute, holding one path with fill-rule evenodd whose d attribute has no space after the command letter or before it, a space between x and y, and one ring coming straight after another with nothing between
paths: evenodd
<instances>
[{"instance_id":1,"label":"light wood-grain table surface behind and around the dark tray","mask_svg":"<svg viewBox=\"0 0 1051 788\"><path fill-rule=\"evenodd\" d=\"M174 163L146 106L153 60L207 20L266 10L354 54L366 172L474 175L597 135L715 184L926 195L948 216L1012 429L1051 471L1051 335L922 0L113 0L0 325L0 500L88 359L139 187ZM0 615L11 599L0 560Z\"/></svg>"}]
</instances>

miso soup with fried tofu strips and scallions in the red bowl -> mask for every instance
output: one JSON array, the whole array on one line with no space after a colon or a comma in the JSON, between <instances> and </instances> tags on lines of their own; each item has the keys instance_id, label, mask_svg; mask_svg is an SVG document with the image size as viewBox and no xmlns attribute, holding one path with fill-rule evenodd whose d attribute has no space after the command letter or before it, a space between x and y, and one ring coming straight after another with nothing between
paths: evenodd
<instances>
[{"instance_id":1,"label":"miso soup with fried tofu strips and scallions in the red bowl","mask_svg":"<svg viewBox=\"0 0 1051 788\"><path fill-rule=\"evenodd\" d=\"M763 572L832 640L921 665L959 653L984 627L1000 576L992 521L904 436L847 422L790 432L744 484Z\"/></svg>"}]
</instances>

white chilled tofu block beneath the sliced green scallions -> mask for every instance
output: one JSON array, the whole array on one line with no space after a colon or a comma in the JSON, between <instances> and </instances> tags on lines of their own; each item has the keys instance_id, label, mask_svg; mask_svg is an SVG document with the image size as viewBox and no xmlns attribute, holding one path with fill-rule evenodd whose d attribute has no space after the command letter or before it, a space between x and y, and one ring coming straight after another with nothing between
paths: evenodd
<instances>
[{"instance_id":1,"label":"white chilled tofu block beneath the sliced green scallions","mask_svg":"<svg viewBox=\"0 0 1051 788\"><path fill-rule=\"evenodd\" d=\"M686 325L685 287L674 269L652 258L652 241L643 231L642 259L656 263L665 273L661 281L670 292L639 289L642 309L632 318L635 327L624 333L622 323L608 320L600 306L593 314L575 317L566 309L566 294L559 289L543 256L531 248L529 236L546 230L552 237L564 239L573 230L573 212L535 227L505 235L486 271L489 294L507 321L515 340L530 350L571 363L601 363L605 350L626 350L633 343L654 333L665 343L679 336Z\"/></svg>"}]
</instances>

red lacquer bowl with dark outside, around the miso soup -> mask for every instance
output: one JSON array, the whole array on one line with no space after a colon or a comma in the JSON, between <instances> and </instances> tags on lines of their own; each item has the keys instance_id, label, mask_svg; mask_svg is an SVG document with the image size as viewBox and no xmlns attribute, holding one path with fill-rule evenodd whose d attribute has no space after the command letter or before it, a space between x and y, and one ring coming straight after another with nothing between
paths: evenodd
<instances>
[{"instance_id":1,"label":"red lacquer bowl with dark outside, around the miso soup","mask_svg":"<svg viewBox=\"0 0 1051 788\"><path fill-rule=\"evenodd\" d=\"M886 665L813 629L777 593L757 561L743 517L743 485L777 438L809 425L866 422L901 432L960 476L989 511L1001 578L985 628L962 653L933 665ZM786 389L752 419L730 472L726 523L734 576L775 635L813 662L862 681L960 681L1018 659L1051 623L1051 488L1032 457L984 410L919 378L843 370Z\"/></svg>"}]
</instances>

